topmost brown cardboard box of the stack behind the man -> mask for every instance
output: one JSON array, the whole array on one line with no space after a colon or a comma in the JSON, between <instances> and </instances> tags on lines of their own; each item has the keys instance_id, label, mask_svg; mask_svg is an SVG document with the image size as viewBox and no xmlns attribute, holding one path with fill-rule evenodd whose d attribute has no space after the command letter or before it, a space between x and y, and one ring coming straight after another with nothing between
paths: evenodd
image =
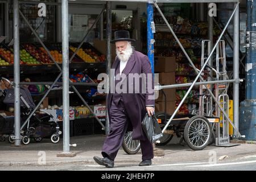
<instances>
[{"instance_id":1,"label":"topmost brown cardboard box of the stack behind the man","mask_svg":"<svg viewBox=\"0 0 256 182\"><path fill-rule=\"evenodd\" d=\"M155 57L155 72L175 72L176 57Z\"/></svg>"}]
</instances>

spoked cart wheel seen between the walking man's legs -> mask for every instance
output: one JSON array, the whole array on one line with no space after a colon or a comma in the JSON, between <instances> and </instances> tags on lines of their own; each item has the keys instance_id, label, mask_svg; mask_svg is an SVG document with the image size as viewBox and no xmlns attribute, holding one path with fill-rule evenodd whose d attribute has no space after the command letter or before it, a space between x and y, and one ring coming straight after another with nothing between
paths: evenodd
<instances>
[{"instance_id":1,"label":"spoked cart wheel seen between the walking man's legs","mask_svg":"<svg viewBox=\"0 0 256 182\"><path fill-rule=\"evenodd\" d=\"M125 134L125 137L123 137L122 147L127 154L134 155L137 154L139 149L141 149L141 143L139 140L133 140L132 135L133 131L128 131Z\"/></svg>"}]
</instances>

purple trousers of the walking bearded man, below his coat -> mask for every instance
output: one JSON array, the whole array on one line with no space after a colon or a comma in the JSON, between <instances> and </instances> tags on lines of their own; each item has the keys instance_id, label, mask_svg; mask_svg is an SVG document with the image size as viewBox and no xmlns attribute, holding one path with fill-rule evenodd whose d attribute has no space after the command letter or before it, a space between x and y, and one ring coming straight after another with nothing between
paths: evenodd
<instances>
[{"instance_id":1,"label":"purple trousers of the walking bearded man, below his coat","mask_svg":"<svg viewBox=\"0 0 256 182\"><path fill-rule=\"evenodd\" d=\"M110 133L106 137L102 147L102 156L114 160L119 148L122 146L123 137L128 127L128 116L122 100L116 106L113 102L110 107ZM154 158L152 143L147 140L140 140L142 160Z\"/></svg>"}]
</instances>

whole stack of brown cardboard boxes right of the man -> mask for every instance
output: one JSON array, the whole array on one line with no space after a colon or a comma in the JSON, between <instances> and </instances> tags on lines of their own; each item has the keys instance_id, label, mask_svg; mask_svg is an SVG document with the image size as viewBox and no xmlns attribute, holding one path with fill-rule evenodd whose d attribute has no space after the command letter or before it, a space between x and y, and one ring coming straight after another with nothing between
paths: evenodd
<instances>
[{"instance_id":1,"label":"whole stack of brown cardboard boxes right of the man","mask_svg":"<svg viewBox=\"0 0 256 182\"><path fill-rule=\"evenodd\" d=\"M155 57L155 76L159 76L160 85L175 84L176 57ZM163 89L166 94L166 111L173 114L175 111L176 89ZM159 90L155 98L155 112L164 111L164 94ZM157 96L157 94L155 94Z\"/></svg>"}]
</instances>

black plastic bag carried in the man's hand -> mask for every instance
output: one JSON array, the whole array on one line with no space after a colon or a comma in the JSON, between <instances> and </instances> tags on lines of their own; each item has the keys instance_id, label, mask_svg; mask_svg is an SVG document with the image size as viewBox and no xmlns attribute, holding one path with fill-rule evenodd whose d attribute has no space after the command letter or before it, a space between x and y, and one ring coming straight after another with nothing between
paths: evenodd
<instances>
[{"instance_id":1,"label":"black plastic bag carried in the man's hand","mask_svg":"<svg viewBox=\"0 0 256 182\"><path fill-rule=\"evenodd\" d=\"M155 143L163 137L161 127L155 115L148 116L146 113L141 125L144 133L147 135L147 138L151 143Z\"/></svg>"}]
</instances>

